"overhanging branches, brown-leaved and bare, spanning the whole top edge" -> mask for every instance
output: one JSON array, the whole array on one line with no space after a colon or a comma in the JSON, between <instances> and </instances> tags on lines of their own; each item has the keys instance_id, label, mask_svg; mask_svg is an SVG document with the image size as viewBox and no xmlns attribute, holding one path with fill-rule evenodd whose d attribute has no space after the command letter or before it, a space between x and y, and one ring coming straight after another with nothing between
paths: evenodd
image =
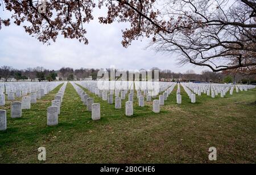
<instances>
[{"instance_id":1,"label":"overhanging branches, brown-leaved and bare, spanning the whole top edge","mask_svg":"<svg viewBox=\"0 0 256 175\"><path fill-rule=\"evenodd\" d=\"M212 71L237 69L256 74L256 2L254 0L4 0L16 25L39 41L58 35L88 44L85 23L93 8L108 8L100 23L125 22L122 45L151 37L159 52L177 52L181 63L207 66ZM0 2L1 3L1 2ZM39 8L40 7L40 8ZM10 25L10 19L0 19ZM171 59L171 58L170 58Z\"/></svg>"}]
</instances>

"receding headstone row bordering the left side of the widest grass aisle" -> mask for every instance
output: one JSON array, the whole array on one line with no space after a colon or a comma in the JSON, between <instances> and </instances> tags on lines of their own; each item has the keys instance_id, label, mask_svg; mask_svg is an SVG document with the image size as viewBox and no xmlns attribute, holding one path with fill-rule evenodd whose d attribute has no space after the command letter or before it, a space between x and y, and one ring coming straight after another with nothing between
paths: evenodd
<instances>
[{"instance_id":1,"label":"receding headstone row bordering the left side of the widest grass aisle","mask_svg":"<svg viewBox=\"0 0 256 175\"><path fill-rule=\"evenodd\" d=\"M47 108L47 126L55 126L59 123L61 103L63 102L66 87L67 82L60 87L59 91L54 97L54 100L52 100L52 105Z\"/></svg>"}]
</instances>

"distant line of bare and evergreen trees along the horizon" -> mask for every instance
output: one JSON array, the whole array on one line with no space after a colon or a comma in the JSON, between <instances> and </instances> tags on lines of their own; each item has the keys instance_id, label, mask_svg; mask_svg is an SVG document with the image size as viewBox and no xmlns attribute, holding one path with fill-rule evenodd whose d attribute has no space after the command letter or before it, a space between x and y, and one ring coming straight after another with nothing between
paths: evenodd
<instances>
[{"instance_id":1,"label":"distant line of bare and evergreen trees along the horizon","mask_svg":"<svg viewBox=\"0 0 256 175\"><path fill-rule=\"evenodd\" d=\"M100 69L80 68L73 69L71 67L61 67L60 70L48 70L44 67L35 67L27 69L14 69L10 66L0 67L0 79L4 81L14 78L16 80L31 81L52 81L52 80L85 80L86 78L97 79L97 72ZM110 69L106 69L110 73ZM139 71L142 71L141 69ZM196 74L193 70L187 70L184 73L176 73L171 70L160 70L158 67L152 67L152 78L154 78L154 71L159 71L159 80L161 81L183 81L183 82L213 82L213 83L256 83L255 75L244 75L236 71L213 72L204 70L201 74ZM115 72L117 69L115 69ZM126 71L127 78L129 77ZM141 78L141 77L140 77ZM118 80L118 77L115 78Z\"/></svg>"}]
</instances>

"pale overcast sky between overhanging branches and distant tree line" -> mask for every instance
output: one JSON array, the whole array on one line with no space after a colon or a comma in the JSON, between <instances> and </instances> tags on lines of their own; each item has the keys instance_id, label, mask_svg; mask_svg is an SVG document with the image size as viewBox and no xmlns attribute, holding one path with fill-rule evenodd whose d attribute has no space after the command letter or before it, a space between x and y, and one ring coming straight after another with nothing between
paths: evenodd
<instances>
[{"instance_id":1,"label":"pale overcast sky between overhanging branches and distant tree line","mask_svg":"<svg viewBox=\"0 0 256 175\"><path fill-rule=\"evenodd\" d=\"M59 36L51 45L43 44L24 32L23 27L11 24L0 30L0 66L8 65L17 69L43 66L46 69L109 68L118 69L169 69L173 72L185 72L192 69L197 73L207 69L192 65L180 66L174 54L156 53L145 49L148 40L133 41L129 48L123 48L122 32L127 24L114 23L104 25L98 23L97 16L105 16L102 11L94 10L94 20L86 24L88 45L73 39ZM0 10L5 19L8 12Z\"/></svg>"}]
</instances>

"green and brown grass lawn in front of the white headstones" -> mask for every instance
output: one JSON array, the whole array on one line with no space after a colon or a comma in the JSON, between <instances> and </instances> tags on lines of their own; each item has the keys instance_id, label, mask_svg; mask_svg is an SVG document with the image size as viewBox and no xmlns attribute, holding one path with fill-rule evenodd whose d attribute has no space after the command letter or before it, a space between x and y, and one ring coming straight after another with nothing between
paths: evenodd
<instances>
[{"instance_id":1,"label":"green and brown grass lawn in front of the white headstones","mask_svg":"<svg viewBox=\"0 0 256 175\"><path fill-rule=\"evenodd\" d=\"M59 88L22 110L21 118L10 117L0 131L0 163L43 163L39 147L46 147L44 163L256 163L256 89L228 93L225 98L196 96L191 104L181 88L182 104L176 104L176 87L160 113L152 102L125 116L84 89L101 104L101 119L92 121L71 83L67 84L59 125L46 125L46 110ZM217 161L208 160L209 147L217 148Z\"/></svg>"}]
</instances>

